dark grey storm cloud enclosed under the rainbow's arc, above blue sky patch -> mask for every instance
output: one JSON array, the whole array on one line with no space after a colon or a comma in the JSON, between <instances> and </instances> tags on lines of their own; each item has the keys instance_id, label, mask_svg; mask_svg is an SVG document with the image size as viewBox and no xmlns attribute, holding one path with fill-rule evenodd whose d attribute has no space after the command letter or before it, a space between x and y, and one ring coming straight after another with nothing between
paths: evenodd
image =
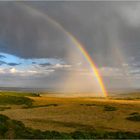
<instances>
[{"instance_id":1,"label":"dark grey storm cloud enclosed under the rainbow's arc, above blue sky patch","mask_svg":"<svg viewBox=\"0 0 140 140\"><path fill-rule=\"evenodd\" d=\"M61 58L67 54L67 37L48 20L22 8L22 4L0 6L1 52L22 58Z\"/></svg>"}]
</instances>

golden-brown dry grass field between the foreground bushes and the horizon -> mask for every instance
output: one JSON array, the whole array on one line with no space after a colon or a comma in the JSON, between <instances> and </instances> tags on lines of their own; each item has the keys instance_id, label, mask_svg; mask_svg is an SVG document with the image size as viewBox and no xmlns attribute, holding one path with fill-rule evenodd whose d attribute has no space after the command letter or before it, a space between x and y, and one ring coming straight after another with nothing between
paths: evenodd
<instances>
[{"instance_id":1,"label":"golden-brown dry grass field between the foreground bushes and the horizon","mask_svg":"<svg viewBox=\"0 0 140 140\"><path fill-rule=\"evenodd\" d=\"M29 98L34 100L31 107L11 105L11 109L0 113L40 130L140 132L140 122L126 119L131 113L140 113L140 100L50 96ZM108 110L108 107L113 110Z\"/></svg>"}]
</instances>

